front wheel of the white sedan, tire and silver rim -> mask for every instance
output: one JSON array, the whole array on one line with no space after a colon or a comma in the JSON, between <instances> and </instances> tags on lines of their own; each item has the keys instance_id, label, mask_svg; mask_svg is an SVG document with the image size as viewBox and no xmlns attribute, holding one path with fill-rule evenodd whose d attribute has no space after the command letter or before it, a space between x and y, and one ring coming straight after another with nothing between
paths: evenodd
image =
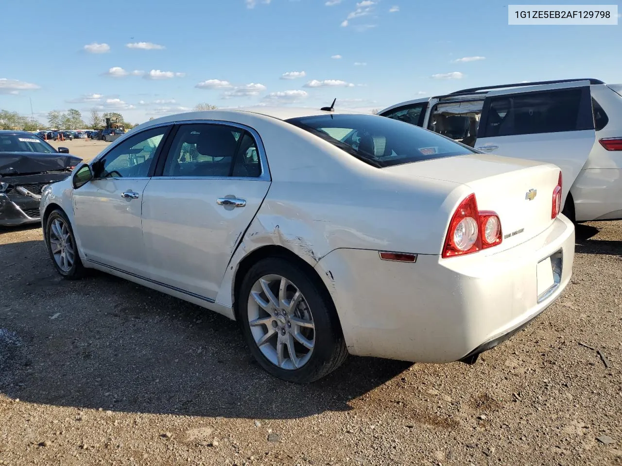
<instances>
[{"instance_id":1,"label":"front wheel of the white sedan, tire and silver rim","mask_svg":"<svg viewBox=\"0 0 622 466\"><path fill-rule=\"evenodd\" d=\"M60 209L47 217L45 243L54 267L63 278L77 280L85 275L72 226Z\"/></svg>"}]
</instances>

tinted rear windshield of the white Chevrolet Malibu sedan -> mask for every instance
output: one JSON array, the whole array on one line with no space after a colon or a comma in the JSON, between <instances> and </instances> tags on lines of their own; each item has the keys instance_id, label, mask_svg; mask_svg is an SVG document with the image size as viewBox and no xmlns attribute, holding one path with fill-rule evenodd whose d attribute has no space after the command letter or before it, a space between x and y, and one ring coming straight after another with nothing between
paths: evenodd
<instances>
[{"instance_id":1,"label":"tinted rear windshield of the white Chevrolet Malibu sedan","mask_svg":"<svg viewBox=\"0 0 622 466\"><path fill-rule=\"evenodd\" d=\"M475 152L431 131L375 115L319 115L286 121L379 168Z\"/></svg>"}]
</instances>

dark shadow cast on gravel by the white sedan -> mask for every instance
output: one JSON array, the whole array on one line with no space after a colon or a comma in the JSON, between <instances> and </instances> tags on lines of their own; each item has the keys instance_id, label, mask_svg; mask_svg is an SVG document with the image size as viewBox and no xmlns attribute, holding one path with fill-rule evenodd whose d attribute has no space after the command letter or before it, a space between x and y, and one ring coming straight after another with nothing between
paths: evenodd
<instances>
[{"instance_id":1,"label":"dark shadow cast on gravel by the white sedan","mask_svg":"<svg viewBox=\"0 0 622 466\"><path fill-rule=\"evenodd\" d=\"M0 245L0 393L32 403L230 418L350 409L411 363L350 357L309 385L264 372L236 322L104 273L57 276L40 241ZM17 340L16 340L17 338ZM2 349L4 345L4 350ZM4 368L2 368L4 354Z\"/></svg>"}]
</instances>

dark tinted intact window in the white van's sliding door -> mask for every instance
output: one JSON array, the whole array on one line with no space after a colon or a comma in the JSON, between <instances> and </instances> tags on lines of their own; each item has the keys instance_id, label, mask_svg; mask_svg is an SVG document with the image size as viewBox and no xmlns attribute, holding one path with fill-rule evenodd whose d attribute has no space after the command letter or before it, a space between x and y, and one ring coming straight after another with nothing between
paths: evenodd
<instances>
[{"instance_id":1,"label":"dark tinted intact window in the white van's sliding door","mask_svg":"<svg viewBox=\"0 0 622 466\"><path fill-rule=\"evenodd\" d=\"M509 94L490 101L478 137L594 129L588 89Z\"/></svg>"}]
</instances>

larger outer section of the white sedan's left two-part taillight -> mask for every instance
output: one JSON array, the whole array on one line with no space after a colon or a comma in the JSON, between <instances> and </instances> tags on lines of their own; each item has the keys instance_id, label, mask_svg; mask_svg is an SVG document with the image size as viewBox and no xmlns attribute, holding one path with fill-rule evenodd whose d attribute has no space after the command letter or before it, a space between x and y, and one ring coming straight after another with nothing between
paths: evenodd
<instances>
[{"instance_id":1,"label":"larger outer section of the white sedan's left two-part taillight","mask_svg":"<svg viewBox=\"0 0 622 466\"><path fill-rule=\"evenodd\" d=\"M471 254L481 249L480 213L475 194L467 196L453 213L449 223L443 257Z\"/></svg>"}]
</instances>

